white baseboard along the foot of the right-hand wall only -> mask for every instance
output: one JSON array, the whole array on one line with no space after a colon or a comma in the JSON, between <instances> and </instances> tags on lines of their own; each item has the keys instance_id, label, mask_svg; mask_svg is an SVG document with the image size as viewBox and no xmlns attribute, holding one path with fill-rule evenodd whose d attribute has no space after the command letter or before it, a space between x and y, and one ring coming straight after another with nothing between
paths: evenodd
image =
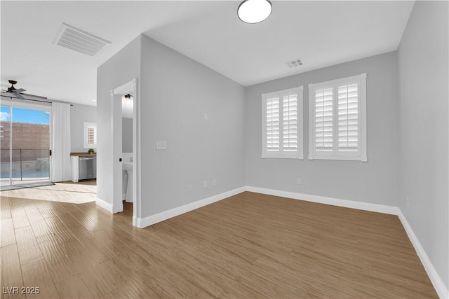
<instances>
[{"instance_id":1,"label":"white baseboard along the foot of the right-hand wall only","mask_svg":"<svg viewBox=\"0 0 449 299\"><path fill-rule=\"evenodd\" d=\"M399 220L401 220L401 223L407 232L410 242L412 242L413 247L415 247L415 251L417 255L420 257L421 263L424 266L427 275L429 275L430 281L434 285L436 293L438 293L438 296L440 298L449 298L448 289L445 287L443 280L441 280L441 277L438 275L438 272L436 272L434 265L431 263L429 259L429 256L427 256L426 251L424 251L424 248L422 248L420 240L416 237L412 227L410 226L410 224L408 224L406 216L402 214L402 211L400 209L398 217Z\"/></svg>"}]
</instances>

